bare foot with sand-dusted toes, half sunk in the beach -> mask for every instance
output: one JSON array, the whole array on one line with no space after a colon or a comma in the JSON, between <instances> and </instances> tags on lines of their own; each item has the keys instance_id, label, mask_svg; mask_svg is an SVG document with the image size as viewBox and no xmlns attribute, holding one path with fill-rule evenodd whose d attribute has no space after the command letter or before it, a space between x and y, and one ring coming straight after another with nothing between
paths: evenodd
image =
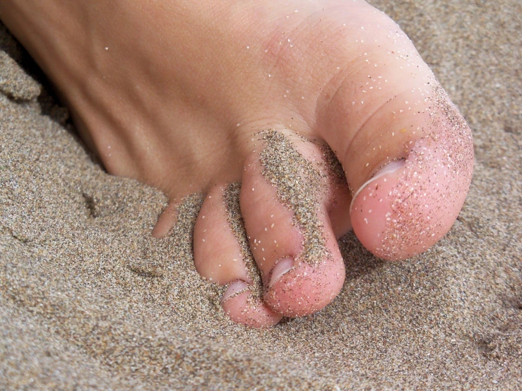
<instances>
[{"instance_id":1,"label":"bare foot with sand-dusted toes, half sunk in the beach","mask_svg":"<svg viewBox=\"0 0 522 391\"><path fill-rule=\"evenodd\" d=\"M463 205L470 130L408 37L364 1L5 0L0 18L107 171L168 195L155 236L184 196L206 193L196 268L227 285L236 322L326 306L350 228L400 260Z\"/></svg>"}]
</instances>

